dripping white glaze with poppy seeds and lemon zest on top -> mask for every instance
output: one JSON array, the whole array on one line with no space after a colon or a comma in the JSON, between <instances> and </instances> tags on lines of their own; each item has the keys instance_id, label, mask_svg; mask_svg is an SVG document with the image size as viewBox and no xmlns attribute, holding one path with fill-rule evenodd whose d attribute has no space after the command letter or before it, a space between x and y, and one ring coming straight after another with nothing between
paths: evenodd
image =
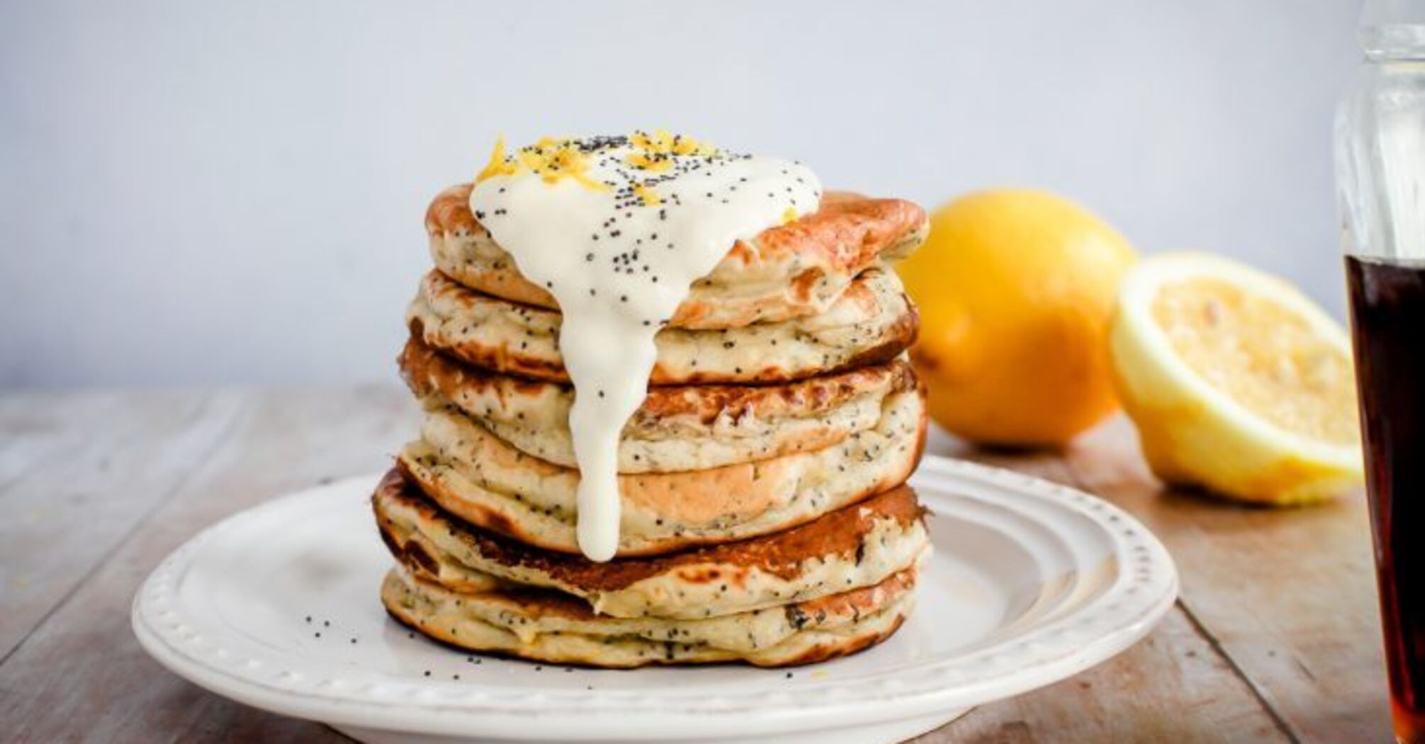
<instances>
[{"instance_id":1,"label":"dripping white glaze with poppy seeds and lemon zest on top","mask_svg":"<svg viewBox=\"0 0 1425 744\"><path fill-rule=\"evenodd\" d=\"M470 210L563 315L574 385L579 547L618 549L618 440L647 395L654 335L738 239L812 212L809 168L667 133L497 145Z\"/></svg>"}]
</instances>

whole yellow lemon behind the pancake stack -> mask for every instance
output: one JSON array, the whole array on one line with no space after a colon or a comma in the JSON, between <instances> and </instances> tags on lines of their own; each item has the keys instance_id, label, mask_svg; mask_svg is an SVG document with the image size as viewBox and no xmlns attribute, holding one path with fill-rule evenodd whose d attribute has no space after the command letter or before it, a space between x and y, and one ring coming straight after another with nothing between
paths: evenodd
<instances>
[{"instance_id":1,"label":"whole yellow lemon behind the pancake stack","mask_svg":"<svg viewBox=\"0 0 1425 744\"><path fill-rule=\"evenodd\" d=\"M1032 190L946 204L898 271L921 309L911 359L931 418L993 445L1062 445L1117 409L1106 336L1134 251L1083 207Z\"/></svg>"}]
</instances>

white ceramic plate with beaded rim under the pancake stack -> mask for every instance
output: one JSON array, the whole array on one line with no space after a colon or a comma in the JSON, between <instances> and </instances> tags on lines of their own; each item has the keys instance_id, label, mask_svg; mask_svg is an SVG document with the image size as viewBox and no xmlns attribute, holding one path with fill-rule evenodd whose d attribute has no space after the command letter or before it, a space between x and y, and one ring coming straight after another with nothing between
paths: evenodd
<instances>
[{"instance_id":1,"label":"white ceramic plate with beaded rim under the pancake stack","mask_svg":"<svg viewBox=\"0 0 1425 744\"><path fill-rule=\"evenodd\" d=\"M172 671L363 741L896 741L1033 690L1141 639L1177 596L1163 546L1073 489L926 458L912 485L935 557L899 633L795 670L637 671L482 658L389 620L375 476L229 517L134 597Z\"/></svg>"}]
</instances>

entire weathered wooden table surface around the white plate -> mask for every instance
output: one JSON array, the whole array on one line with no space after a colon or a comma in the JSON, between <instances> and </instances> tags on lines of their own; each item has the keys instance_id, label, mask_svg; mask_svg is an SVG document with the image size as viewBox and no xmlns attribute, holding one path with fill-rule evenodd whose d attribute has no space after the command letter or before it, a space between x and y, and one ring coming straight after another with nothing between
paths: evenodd
<instances>
[{"instance_id":1,"label":"entire weathered wooden table surface around the white plate","mask_svg":"<svg viewBox=\"0 0 1425 744\"><path fill-rule=\"evenodd\" d=\"M415 423L396 386L0 395L0 740L343 741L167 673L130 601L200 527L376 470ZM1164 490L1124 420L1064 452L931 450L1127 509L1183 593L1121 656L916 741L1391 741L1359 496L1277 512Z\"/></svg>"}]
</instances>

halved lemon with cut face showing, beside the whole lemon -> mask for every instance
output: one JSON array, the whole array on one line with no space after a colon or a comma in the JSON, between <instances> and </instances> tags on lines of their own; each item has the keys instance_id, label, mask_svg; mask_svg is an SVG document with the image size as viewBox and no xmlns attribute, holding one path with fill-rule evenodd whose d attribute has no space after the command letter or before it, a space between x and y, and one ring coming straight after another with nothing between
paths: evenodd
<instances>
[{"instance_id":1,"label":"halved lemon with cut face showing, beside the whole lemon","mask_svg":"<svg viewBox=\"0 0 1425 744\"><path fill-rule=\"evenodd\" d=\"M1361 483L1351 342L1285 281L1206 254L1149 258L1119 289L1109 351L1163 480L1274 505Z\"/></svg>"}]
</instances>

